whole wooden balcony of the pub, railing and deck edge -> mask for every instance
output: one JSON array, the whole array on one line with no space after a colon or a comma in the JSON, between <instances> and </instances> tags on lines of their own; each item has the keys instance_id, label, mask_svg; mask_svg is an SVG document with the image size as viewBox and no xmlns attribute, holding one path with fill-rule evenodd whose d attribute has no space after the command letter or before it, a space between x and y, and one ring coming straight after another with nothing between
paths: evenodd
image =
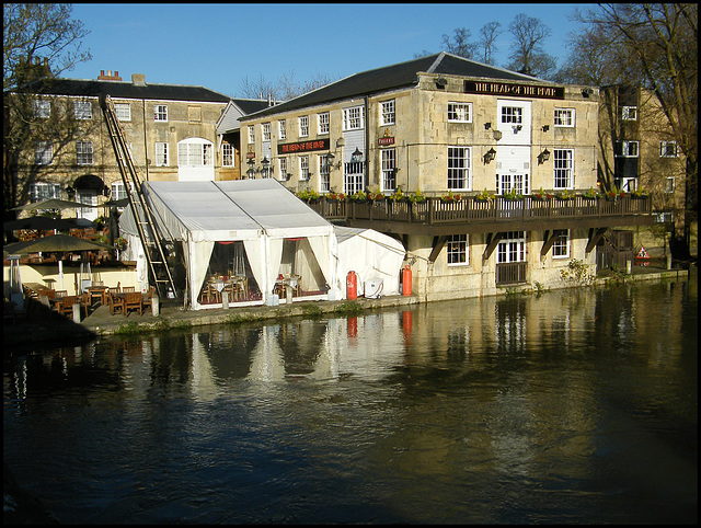
<instances>
[{"instance_id":1,"label":"whole wooden balcony of the pub, railing and deck edge","mask_svg":"<svg viewBox=\"0 0 701 528\"><path fill-rule=\"evenodd\" d=\"M495 231L611 228L654 222L652 200L630 196L616 199L521 199L496 197L459 202L426 198L423 202L381 199L354 202L321 197L309 203L329 220L398 234L462 234Z\"/></svg>"}]
</instances>

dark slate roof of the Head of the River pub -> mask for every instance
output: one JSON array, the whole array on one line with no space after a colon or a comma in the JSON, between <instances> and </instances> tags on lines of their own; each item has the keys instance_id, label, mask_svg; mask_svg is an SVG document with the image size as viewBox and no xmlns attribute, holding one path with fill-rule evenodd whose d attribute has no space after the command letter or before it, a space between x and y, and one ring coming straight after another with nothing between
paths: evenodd
<instances>
[{"instance_id":1,"label":"dark slate roof of the Head of the River pub","mask_svg":"<svg viewBox=\"0 0 701 528\"><path fill-rule=\"evenodd\" d=\"M332 101L380 93L389 90L413 87L418 83L418 72L446 76L463 76L479 79L501 79L507 81L545 82L531 76L484 65L457 55L441 51L426 57L384 66L375 70L355 73L340 81L308 92L299 97L257 112L253 117L277 114L291 110L313 106Z\"/></svg>"}]
</instances>

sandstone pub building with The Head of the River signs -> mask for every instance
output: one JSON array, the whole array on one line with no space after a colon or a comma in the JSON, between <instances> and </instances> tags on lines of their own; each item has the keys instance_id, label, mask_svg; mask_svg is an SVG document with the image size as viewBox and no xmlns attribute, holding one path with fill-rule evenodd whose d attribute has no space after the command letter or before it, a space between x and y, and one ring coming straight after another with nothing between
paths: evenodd
<instances>
[{"instance_id":1,"label":"sandstone pub building with The Head of the River signs","mask_svg":"<svg viewBox=\"0 0 701 528\"><path fill-rule=\"evenodd\" d=\"M597 188L599 93L441 53L371 70L241 119L248 177L292 191L421 193L445 200ZM518 211L514 211L515 215ZM508 214L503 216L508 220ZM470 222L441 230L376 229L401 239L426 300L492 295L501 265L516 285L562 285L576 259L596 265L587 226ZM516 228L516 229L515 229ZM501 284L503 283L503 284ZM513 286L514 284L512 284Z\"/></svg>"}]
</instances>

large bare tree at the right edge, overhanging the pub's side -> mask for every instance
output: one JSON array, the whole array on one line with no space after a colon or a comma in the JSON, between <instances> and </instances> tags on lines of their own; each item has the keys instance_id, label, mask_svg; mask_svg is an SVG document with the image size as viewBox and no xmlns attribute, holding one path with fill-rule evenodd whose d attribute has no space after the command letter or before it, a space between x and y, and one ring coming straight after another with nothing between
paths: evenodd
<instances>
[{"instance_id":1,"label":"large bare tree at the right edge, overhanging the pub's side","mask_svg":"<svg viewBox=\"0 0 701 528\"><path fill-rule=\"evenodd\" d=\"M609 81L637 83L659 101L674 140L686 157L682 243L688 251L690 223L698 218L698 5L599 4L577 18L588 34L601 36L599 59L591 59L601 76Z\"/></svg>"}]
</instances>

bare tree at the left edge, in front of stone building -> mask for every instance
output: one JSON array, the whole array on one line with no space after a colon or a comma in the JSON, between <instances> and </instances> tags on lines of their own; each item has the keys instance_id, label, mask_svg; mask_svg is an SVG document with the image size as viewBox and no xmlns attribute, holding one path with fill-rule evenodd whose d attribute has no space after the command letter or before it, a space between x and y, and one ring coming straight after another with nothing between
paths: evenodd
<instances>
[{"instance_id":1,"label":"bare tree at the left edge, in front of stone building","mask_svg":"<svg viewBox=\"0 0 701 528\"><path fill-rule=\"evenodd\" d=\"M68 156L68 148L85 122L78 123L70 107L55 101L48 117L37 116L37 94L47 90L55 76L89 60L81 49L88 34L82 22L71 19L70 4L15 3L3 7L3 218L27 200L31 185L48 177ZM39 141L50 144L55 162L39 165L35 152Z\"/></svg>"}]
</instances>

